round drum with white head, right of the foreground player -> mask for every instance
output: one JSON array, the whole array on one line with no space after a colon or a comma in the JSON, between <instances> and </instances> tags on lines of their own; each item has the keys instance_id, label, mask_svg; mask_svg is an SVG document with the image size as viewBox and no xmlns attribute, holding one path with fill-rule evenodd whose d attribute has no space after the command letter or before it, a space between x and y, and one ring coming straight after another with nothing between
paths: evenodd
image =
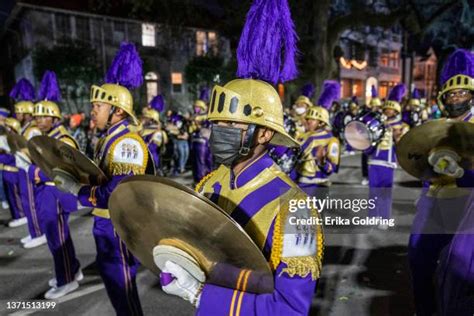
<instances>
[{"instance_id":1,"label":"round drum with white head, right of the foreground player","mask_svg":"<svg viewBox=\"0 0 474 316\"><path fill-rule=\"evenodd\" d=\"M385 133L382 115L378 112L363 112L344 128L346 142L356 150L367 150L376 146Z\"/></svg>"}]
</instances>

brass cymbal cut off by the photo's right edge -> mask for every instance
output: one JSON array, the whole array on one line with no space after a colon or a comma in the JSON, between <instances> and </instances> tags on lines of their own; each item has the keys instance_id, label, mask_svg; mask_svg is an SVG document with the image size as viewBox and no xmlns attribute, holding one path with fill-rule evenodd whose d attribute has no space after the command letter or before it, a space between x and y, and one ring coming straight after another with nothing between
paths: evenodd
<instances>
[{"instance_id":1,"label":"brass cymbal cut off by the photo's right edge","mask_svg":"<svg viewBox=\"0 0 474 316\"><path fill-rule=\"evenodd\" d=\"M414 127L397 144L396 152L400 166L421 180L444 179L433 171L428 156L434 148L455 151L460 157L460 166L474 166L474 124L454 120L434 120Z\"/></svg>"}]
</instances>

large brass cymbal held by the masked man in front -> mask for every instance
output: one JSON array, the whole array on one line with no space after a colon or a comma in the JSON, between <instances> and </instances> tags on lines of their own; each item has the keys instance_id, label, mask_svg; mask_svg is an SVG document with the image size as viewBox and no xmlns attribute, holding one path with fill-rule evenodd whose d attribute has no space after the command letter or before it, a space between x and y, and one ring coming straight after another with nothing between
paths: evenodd
<instances>
[{"instance_id":1,"label":"large brass cymbal held by the masked man in front","mask_svg":"<svg viewBox=\"0 0 474 316\"><path fill-rule=\"evenodd\" d=\"M273 274L245 231L207 198L169 179L133 176L112 193L109 209L115 230L140 262L158 274L157 245L185 251L205 272L208 283L234 288L251 270L248 292L273 291Z\"/></svg>"}]
</instances>

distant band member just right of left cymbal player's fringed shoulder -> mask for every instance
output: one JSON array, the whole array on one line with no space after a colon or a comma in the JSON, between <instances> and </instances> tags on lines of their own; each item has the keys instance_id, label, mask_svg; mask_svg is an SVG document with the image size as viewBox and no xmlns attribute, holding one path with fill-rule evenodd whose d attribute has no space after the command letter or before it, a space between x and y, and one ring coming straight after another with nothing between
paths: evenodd
<instances>
[{"instance_id":1,"label":"distant band member just right of left cymbal player's fringed shoulder","mask_svg":"<svg viewBox=\"0 0 474 316\"><path fill-rule=\"evenodd\" d=\"M166 143L168 136L161 129L160 112L164 109L163 96L157 95L151 101L150 105L142 111L143 129L140 135L148 146L151 158L155 165L155 174L162 175L161 171L161 152Z\"/></svg>"}]
</instances>

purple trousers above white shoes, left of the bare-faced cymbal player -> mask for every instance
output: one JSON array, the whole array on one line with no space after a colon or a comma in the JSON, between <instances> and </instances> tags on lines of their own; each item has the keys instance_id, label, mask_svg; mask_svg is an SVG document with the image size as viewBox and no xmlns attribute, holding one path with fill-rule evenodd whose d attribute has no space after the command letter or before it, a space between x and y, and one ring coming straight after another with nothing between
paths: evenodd
<instances>
[{"instance_id":1,"label":"purple trousers above white shoes, left of the bare-faced cymbal player","mask_svg":"<svg viewBox=\"0 0 474 316\"><path fill-rule=\"evenodd\" d=\"M40 184L37 187L36 205L41 217L41 229L53 255L57 286L74 281L79 270L74 244L69 233L69 212L77 200L72 194L59 191L55 186Z\"/></svg>"}]
</instances>

